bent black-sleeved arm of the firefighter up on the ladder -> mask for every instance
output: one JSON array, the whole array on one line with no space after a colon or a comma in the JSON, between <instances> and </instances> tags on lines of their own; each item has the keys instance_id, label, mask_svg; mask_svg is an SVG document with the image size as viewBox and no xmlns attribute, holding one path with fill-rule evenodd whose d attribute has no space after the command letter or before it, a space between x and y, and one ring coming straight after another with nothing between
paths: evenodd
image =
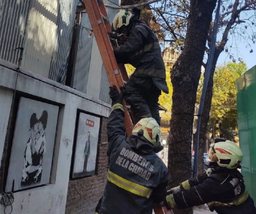
<instances>
[{"instance_id":1,"label":"bent black-sleeved arm of the firefighter up on the ladder","mask_svg":"<svg viewBox=\"0 0 256 214\"><path fill-rule=\"evenodd\" d=\"M136 26L127 41L114 51L118 63L127 63L128 56L140 51L148 39L149 32L143 26Z\"/></svg>"}]
</instances>

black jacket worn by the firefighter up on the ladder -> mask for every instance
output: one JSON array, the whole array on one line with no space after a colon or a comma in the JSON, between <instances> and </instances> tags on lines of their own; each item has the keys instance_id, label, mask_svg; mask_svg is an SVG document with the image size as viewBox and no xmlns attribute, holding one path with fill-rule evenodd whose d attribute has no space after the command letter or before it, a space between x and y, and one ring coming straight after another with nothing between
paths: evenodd
<instances>
[{"instance_id":1,"label":"black jacket worn by the firefighter up on the ladder","mask_svg":"<svg viewBox=\"0 0 256 214\"><path fill-rule=\"evenodd\" d=\"M159 90L169 93L161 47L155 33L140 20L134 20L130 25L127 41L114 51L117 62L136 68L133 79L152 77Z\"/></svg>"}]
</instances>

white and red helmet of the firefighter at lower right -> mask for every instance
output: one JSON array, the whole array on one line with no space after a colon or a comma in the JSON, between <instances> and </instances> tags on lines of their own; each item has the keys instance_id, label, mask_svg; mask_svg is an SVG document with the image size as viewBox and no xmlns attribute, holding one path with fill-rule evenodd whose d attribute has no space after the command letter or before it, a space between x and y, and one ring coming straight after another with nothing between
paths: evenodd
<instances>
[{"instance_id":1,"label":"white and red helmet of the firefighter at lower right","mask_svg":"<svg viewBox=\"0 0 256 214\"><path fill-rule=\"evenodd\" d=\"M212 143L208 150L208 162L216 162L220 167L237 168L243 160L243 152L230 140Z\"/></svg>"}]
</instances>

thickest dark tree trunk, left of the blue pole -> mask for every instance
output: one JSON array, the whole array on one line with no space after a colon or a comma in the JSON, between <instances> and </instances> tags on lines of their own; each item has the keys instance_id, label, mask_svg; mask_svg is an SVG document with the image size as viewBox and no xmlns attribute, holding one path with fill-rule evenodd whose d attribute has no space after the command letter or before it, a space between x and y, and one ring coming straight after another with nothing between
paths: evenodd
<instances>
[{"instance_id":1,"label":"thickest dark tree trunk, left of the blue pole","mask_svg":"<svg viewBox=\"0 0 256 214\"><path fill-rule=\"evenodd\" d=\"M216 0L191 0L184 51L171 71L172 117L170 122L168 168L169 186L191 177L191 144L194 109L207 33ZM174 211L191 213L190 210Z\"/></svg>"}]
</instances>

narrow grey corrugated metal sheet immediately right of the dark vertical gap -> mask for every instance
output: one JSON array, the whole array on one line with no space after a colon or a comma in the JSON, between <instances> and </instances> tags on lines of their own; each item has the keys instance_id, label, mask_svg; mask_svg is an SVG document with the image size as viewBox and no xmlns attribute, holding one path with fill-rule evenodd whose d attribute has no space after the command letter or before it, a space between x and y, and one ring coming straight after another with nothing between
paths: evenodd
<instances>
[{"instance_id":1,"label":"narrow grey corrugated metal sheet immediately right of the dark vertical gap","mask_svg":"<svg viewBox=\"0 0 256 214\"><path fill-rule=\"evenodd\" d=\"M86 93L87 91L87 82L92 54L93 37L89 36L89 29L91 28L92 26L90 25L88 15L86 13L82 14L73 87L76 90L82 91L83 93Z\"/></svg>"}]
</instances>

